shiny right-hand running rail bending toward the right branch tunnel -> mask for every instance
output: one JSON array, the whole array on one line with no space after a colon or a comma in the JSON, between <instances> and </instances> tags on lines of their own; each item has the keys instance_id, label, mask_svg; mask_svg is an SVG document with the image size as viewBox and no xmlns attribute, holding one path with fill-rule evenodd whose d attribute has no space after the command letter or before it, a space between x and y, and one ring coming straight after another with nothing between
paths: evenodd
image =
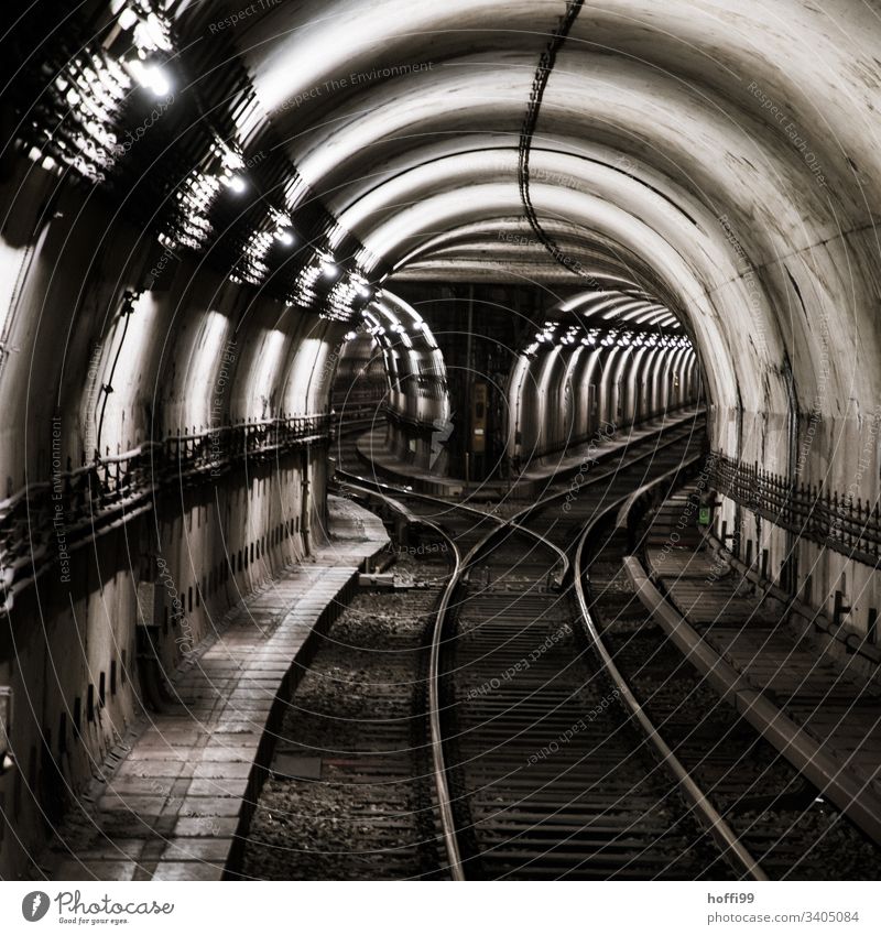
<instances>
[{"instance_id":1,"label":"shiny right-hand running rail bending toward the right branch tunnel","mask_svg":"<svg viewBox=\"0 0 881 935\"><path fill-rule=\"evenodd\" d=\"M664 479L668 478L666 476L657 478L657 480L653 483L661 482ZM646 485L645 488L641 488L638 492L644 492L644 490L651 486L653 485ZM584 621L585 629L587 631L588 637L590 638L594 649L597 652L597 655L600 657L603 666L606 667L609 678L612 681L614 687L619 691L621 697L624 700L624 704L627 705L631 716L633 717L633 720L640 726L643 733L645 735L646 740L652 744L657 755L661 758L663 763L673 774L679 785L681 791L683 792L685 797L692 803L696 814L698 815L698 818L707 827L716 844L727 856L729 862L737 871L746 874L752 880L766 880L768 877L765 876L764 871L755 861L755 859L750 855L750 852L740 842L740 839L738 838L735 830L716 811L713 803L707 798L707 796L703 793L697 783L692 779L690 773L683 765L679 758L673 752L673 750L670 749L667 743L664 741L663 737L661 737L661 735L657 732L657 728L652 724L651 719L643 710L642 705L639 703L635 695L630 689L630 686L628 685L620 670L614 664L614 660L609 653L609 650L606 644L602 642L599 629L597 628L592 617L590 616L587 598L585 596L583 580L584 576L581 574L581 559L584 555L585 545L587 543L588 537L594 532L595 528L598 525L600 520L607 517L612 510L620 508L621 504L628 503L631 500L631 496L632 494L626 494L611 502L601 513L596 515L587 524L578 540L578 546L576 548L574 559L575 594L578 600L578 608L581 613L581 619Z\"/></svg>"}]
</instances>

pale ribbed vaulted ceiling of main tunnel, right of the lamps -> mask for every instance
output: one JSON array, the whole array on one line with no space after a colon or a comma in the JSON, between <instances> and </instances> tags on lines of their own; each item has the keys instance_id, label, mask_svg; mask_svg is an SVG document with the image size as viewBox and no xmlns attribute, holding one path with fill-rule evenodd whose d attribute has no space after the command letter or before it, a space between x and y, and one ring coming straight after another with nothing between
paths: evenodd
<instances>
[{"instance_id":1,"label":"pale ribbed vaulted ceiling of main tunnel, right of the lamps","mask_svg":"<svg viewBox=\"0 0 881 935\"><path fill-rule=\"evenodd\" d=\"M567 12L530 196L580 274L537 241L518 188ZM824 410L881 391L862 339L881 200L870 6L300 3L235 40L291 159L393 278L620 275L683 318L724 409L809 409L825 341L853 367L830 366Z\"/></svg>"}]
</instances>

